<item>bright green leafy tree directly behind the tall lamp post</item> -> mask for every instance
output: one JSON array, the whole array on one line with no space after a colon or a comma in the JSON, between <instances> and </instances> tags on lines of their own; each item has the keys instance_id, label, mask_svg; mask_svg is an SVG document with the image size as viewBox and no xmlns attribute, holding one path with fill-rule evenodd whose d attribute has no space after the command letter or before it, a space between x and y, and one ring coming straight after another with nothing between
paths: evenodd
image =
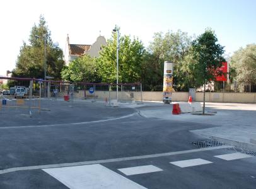
<instances>
[{"instance_id":1,"label":"bright green leafy tree directly behind the tall lamp post","mask_svg":"<svg viewBox=\"0 0 256 189\"><path fill-rule=\"evenodd\" d=\"M127 35L119 40L119 81L133 83L141 80L141 63L145 53L143 43L137 38L131 40ZM107 40L98 57L98 73L103 82L117 81L117 34Z\"/></svg>"}]
</instances>

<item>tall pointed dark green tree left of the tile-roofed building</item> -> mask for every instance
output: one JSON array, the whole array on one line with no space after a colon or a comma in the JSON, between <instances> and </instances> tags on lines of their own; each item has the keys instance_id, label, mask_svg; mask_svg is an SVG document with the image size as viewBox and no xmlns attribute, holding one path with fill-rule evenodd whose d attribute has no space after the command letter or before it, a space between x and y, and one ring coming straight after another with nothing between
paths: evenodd
<instances>
[{"instance_id":1,"label":"tall pointed dark green tree left of the tile-roofed building","mask_svg":"<svg viewBox=\"0 0 256 189\"><path fill-rule=\"evenodd\" d=\"M58 43L52 42L50 31L44 17L41 15L39 24L32 27L30 43L23 42L20 55L16 61L13 76L44 78L44 62L48 76L55 79L61 78L61 70L64 66L63 52ZM44 60L44 43L46 42L46 59Z\"/></svg>"}]
</instances>

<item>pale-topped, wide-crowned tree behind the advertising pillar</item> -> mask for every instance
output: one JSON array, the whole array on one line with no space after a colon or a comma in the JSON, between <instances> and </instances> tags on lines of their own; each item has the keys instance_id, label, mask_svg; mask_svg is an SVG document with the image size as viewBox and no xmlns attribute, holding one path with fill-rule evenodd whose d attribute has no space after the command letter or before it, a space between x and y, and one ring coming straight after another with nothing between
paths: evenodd
<instances>
[{"instance_id":1,"label":"pale-topped, wide-crowned tree behind the advertising pillar","mask_svg":"<svg viewBox=\"0 0 256 189\"><path fill-rule=\"evenodd\" d=\"M162 82L163 62L169 60L175 63L173 88L178 91L187 91L188 79L184 77L184 72L182 72L182 60L188 54L191 42L192 37L180 30L177 32L168 31L165 35L162 32L155 33L153 42L149 43L149 55L144 64L144 67L149 69L144 69L144 79L148 81L156 79L158 82Z\"/></svg>"}]
</instances>

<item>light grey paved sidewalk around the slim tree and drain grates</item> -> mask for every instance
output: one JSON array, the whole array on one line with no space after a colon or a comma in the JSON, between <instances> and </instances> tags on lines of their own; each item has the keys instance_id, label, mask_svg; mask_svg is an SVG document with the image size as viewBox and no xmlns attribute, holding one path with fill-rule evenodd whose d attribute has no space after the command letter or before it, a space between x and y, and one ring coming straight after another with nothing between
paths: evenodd
<instances>
[{"instance_id":1,"label":"light grey paved sidewalk around the slim tree and drain grates","mask_svg":"<svg viewBox=\"0 0 256 189\"><path fill-rule=\"evenodd\" d=\"M163 103L153 105L145 102L145 106L139 110L144 117L210 124L211 128L191 132L243 150L256 151L256 104L206 103L206 112L217 112L212 116L191 113L172 115L172 105Z\"/></svg>"}]
</instances>

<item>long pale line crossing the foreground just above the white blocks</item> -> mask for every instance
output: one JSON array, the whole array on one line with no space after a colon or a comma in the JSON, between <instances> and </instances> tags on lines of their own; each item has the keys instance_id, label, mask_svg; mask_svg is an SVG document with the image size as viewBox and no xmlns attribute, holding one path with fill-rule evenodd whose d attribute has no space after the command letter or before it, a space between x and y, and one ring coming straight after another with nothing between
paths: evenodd
<instances>
[{"instance_id":1,"label":"long pale line crossing the foreground just above the white blocks","mask_svg":"<svg viewBox=\"0 0 256 189\"><path fill-rule=\"evenodd\" d=\"M212 150L216 150L216 149L226 149L226 148L233 148L233 146L214 146L214 147L206 147L206 148L200 148L200 149L191 149L191 150L187 150L187 151L166 152L166 153L161 153L161 154L151 154L151 155L144 155L144 156L119 157L119 158L115 158L115 159L101 159L101 160L95 160L95 161L80 161L80 162L74 162L74 163L59 163L59 164L47 164L47 165L38 165L38 166L24 166L24 167L17 167L17 168L2 169L2 170L0 170L0 175L4 174L4 173L11 173L14 171L62 168L62 167L69 167L69 166L81 166L81 165L86 165L86 164L98 164L98 163L111 163L111 162L129 161L129 160L135 160L135 159L173 156L173 155L187 154L187 153L192 153L192 152L212 151Z\"/></svg>"}]
</instances>

